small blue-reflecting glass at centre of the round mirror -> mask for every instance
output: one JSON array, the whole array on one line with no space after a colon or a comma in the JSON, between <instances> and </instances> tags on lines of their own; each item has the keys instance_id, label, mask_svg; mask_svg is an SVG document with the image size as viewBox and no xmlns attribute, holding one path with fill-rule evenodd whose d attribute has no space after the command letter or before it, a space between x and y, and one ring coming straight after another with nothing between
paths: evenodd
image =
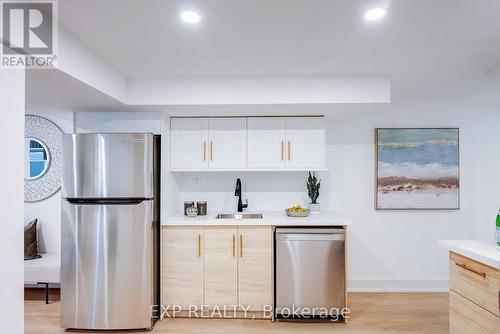
<instances>
[{"instance_id":1,"label":"small blue-reflecting glass at centre of the round mirror","mask_svg":"<svg viewBox=\"0 0 500 334\"><path fill-rule=\"evenodd\" d=\"M36 138L24 140L24 179L36 180L42 177L50 166L47 146Z\"/></svg>"}]
</instances>

